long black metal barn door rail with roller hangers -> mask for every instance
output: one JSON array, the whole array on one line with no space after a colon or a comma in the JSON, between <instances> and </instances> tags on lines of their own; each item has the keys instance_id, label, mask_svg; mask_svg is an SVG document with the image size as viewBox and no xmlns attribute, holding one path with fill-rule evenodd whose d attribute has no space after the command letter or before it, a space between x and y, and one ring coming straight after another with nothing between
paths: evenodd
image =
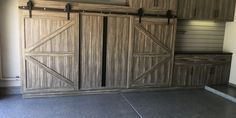
<instances>
[{"instance_id":1,"label":"long black metal barn door rail with roller hangers","mask_svg":"<svg viewBox=\"0 0 236 118\"><path fill-rule=\"evenodd\" d=\"M70 20L70 13L102 13L102 14L114 14L114 15L133 15L133 16L139 16L139 23L142 22L142 17L157 17L157 18L167 18L168 23L170 22L170 19L177 18L175 15L173 15L171 10L168 10L165 15L163 14L148 14L145 13L143 8L137 9L137 13L131 13L131 12L115 12L115 11L96 11L96 10L73 10L72 5L70 3L67 3L65 5L64 9L60 8L47 8L47 7L35 7L33 1L29 0L27 2L27 6L19 6L19 9L22 10L29 10L29 17L32 18L32 11L54 11L54 12L66 12L67 13L67 19Z\"/></svg>"}]
</instances>

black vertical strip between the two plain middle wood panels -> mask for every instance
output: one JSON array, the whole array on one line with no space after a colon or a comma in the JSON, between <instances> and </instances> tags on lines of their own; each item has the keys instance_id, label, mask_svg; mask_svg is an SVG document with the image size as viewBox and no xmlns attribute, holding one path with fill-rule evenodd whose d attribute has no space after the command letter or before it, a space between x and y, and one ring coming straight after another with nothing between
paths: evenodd
<instances>
[{"instance_id":1,"label":"black vertical strip between the two plain middle wood panels","mask_svg":"<svg viewBox=\"0 0 236 118\"><path fill-rule=\"evenodd\" d=\"M106 86L106 70L107 70L107 27L108 17L103 17L103 43L102 43L102 87Z\"/></svg>"}]
</instances>

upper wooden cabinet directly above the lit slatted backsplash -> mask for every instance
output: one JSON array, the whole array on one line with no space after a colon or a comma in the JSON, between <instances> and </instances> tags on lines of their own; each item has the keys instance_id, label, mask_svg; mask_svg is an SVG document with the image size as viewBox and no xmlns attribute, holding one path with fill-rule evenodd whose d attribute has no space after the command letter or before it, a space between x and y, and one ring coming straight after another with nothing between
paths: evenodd
<instances>
[{"instance_id":1,"label":"upper wooden cabinet directly above the lit slatted backsplash","mask_svg":"<svg viewBox=\"0 0 236 118\"><path fill-rule=\"evenodd\" d=\"M179 19L233 21L235 0L178 0Z\"/></svg>"}]
</instances>

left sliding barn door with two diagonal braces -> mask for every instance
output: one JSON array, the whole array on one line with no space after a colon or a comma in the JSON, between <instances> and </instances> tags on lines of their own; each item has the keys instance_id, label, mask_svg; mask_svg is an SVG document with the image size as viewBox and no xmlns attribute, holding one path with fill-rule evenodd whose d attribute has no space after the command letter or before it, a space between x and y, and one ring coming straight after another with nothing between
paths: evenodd
<instances>
[{"instance_id":1,"label":"left sliding barn door with two diagonal braces","mask_svg":"<svg viewBox=\"0 0 236 118\"><path fill-rule=\"evenodd\" d=\"M22 12L24 93L78 89L78 15Z\"/></svg>"}]
</instances>

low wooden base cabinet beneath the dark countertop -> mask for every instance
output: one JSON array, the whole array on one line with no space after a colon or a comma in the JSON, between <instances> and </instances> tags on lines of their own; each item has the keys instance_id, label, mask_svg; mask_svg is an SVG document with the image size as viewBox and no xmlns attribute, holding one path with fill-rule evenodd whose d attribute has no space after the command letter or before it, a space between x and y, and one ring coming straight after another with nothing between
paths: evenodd
<instances>
[{"instance_id":1,"label":"low wooden base cabinet beneath the dark countertop","mask_svg":"<svg viewBox=\"0 0 236 118\"><path fill-rule=\"evenodd\" d=\"M231 54L177 54L172 85L199 87L228 84Z\"/></svg>"}]
</instances>

